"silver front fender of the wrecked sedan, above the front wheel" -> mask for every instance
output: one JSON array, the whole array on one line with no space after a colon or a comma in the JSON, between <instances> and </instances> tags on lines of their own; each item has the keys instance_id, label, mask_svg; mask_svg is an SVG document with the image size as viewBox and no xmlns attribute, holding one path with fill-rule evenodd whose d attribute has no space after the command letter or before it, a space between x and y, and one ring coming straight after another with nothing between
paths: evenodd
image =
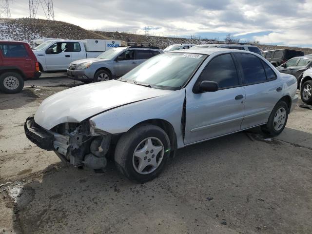
<instances>
[{"instance_id":1,"label":"silver front fender of the wrecked sedan, above the front wheel","mask_svg":"<svg viewBox=\"0 0 312 234\"><path fill-rule=\"evenodd\" d=\"M174 128L177 147L184 146L181 130L181 117L185 89L172 91L169 95L137 101L101 113L90 120L95 128L111 134L127 132L140 122L150 119L163 119Z\"/></svg>"}]
</instances>

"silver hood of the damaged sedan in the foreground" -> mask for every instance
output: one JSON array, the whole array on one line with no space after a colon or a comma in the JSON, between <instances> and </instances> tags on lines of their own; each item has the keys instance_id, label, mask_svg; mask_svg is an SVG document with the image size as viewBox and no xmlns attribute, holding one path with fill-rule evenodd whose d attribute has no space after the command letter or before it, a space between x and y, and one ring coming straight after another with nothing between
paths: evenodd
<instances>
[{"instance_id":1,"label":"silver hood of the damaged sedan in the foreground","mask_svg":"<svg viewBox=\"0 0 312 234\"><path fill-rule=\"evenodd\" d=\"M50 130L60 123L81 122L117 106L171 92L118 80L80 85L46 98L35 114L35 122Z\"/></svg>"}]
</instances>

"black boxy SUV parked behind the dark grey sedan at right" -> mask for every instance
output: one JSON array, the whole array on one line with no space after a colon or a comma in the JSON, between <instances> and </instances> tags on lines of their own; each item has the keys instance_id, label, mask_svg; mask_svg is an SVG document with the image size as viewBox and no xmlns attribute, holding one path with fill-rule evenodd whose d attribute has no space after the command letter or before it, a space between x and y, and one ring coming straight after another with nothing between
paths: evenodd
<instances>
[{"instance_id":1,"label":"black boxy SUV parked behind the dark grey sedan at right","mask_svg":"<svg viewBox=\"0 0 312 234\"><path fill-rule=\"evenodd\" d=\"M270 50L262 53L263 57L273 64L274 67L278 67L281 64L287 62L294 57L304 56L302 51L297 50Z\"/></svg>"}]
</instances>

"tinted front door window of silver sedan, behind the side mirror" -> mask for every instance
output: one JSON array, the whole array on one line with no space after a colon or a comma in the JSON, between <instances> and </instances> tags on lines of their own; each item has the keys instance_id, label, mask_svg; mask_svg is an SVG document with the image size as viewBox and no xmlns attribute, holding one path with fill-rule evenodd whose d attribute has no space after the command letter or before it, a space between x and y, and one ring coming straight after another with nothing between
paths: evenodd
<instances>
[{"instance_id":1,"label":"tinted front door window of silver sedan, behind the side mirror","mask_svg":"<svg viewBox=\"0 0 312 234\"><path fill-rule=\"evenodd\" d=\"M232 56L224 54L215 57L200 74L199 81L215 81L219 89L239 85L239 79Z\"/></svg>"}]
</instances>

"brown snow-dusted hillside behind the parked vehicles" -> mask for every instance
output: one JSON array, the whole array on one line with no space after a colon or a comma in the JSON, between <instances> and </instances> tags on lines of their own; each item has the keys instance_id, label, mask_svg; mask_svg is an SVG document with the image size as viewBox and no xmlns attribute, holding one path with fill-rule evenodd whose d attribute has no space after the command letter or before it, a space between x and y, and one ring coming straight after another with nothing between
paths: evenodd
<instances>
[{"instance_id":1,"label":"brown snow-dusted hillside behind the parked vehicles","mask_svg":"<svg viewBox=\"0 0 312 234\"><path fill-rule=\"evenodd\" d=\"M32 44L34 39L60 38L60 39L118 39L123 41L150 42L161 49L171 44L205 44L214 43L214 39L185 39L145 36L137 34L88 31L77 25L52 20L40 19L0 19L0 40L22 40ZM277 45L257 45L262 51L275 49L295 49L305 54L312 54L312 49L285 47Z\"/></svg>"}]
</instances>

